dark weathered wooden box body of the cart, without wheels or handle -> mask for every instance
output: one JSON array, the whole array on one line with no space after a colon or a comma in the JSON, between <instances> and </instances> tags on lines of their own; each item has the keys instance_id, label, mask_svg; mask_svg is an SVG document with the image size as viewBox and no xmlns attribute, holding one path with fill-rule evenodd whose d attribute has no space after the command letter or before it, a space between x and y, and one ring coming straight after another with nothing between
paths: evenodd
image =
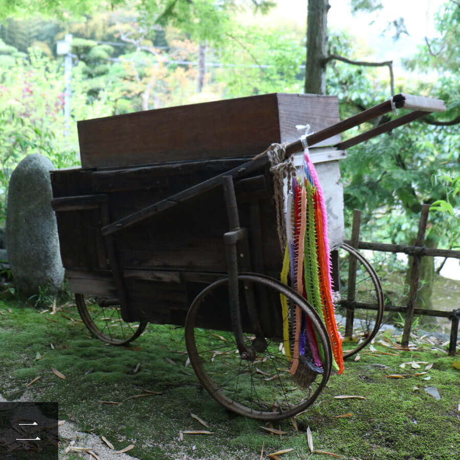
<instances>
[{"instance_id":1,"label":"dark weathered wooden box body of the cart, without wheels or handle","mask_svg":"<svg viewBox=\"0 0 460 460\"><path fill-rule=\"evenodd\" d=\"M80 122L83 168L52 172L61 258L71 290L119 298L116 261L126 295L124 320L183 325L195 296L227 272L223 234L229 224L222 187L114 235L112 261L101 228L244 164L272 141L298 139L295 125L306 121L316 130L337 122L337 99L275 94ZM199 126L208 131L197 131ZM326 144L339 140L335 135ZM337 246L343 241L338 159L344 152L319 147L311 153ZM279 279L282 254L269 167L241 177L235 192L241 226L248 232L247 268ZM223 299L216 307L210 326L218 326L227 304ZM280 315L275 299L261 315L268 335L281 334Z\"/></svg>"}]
</instances>

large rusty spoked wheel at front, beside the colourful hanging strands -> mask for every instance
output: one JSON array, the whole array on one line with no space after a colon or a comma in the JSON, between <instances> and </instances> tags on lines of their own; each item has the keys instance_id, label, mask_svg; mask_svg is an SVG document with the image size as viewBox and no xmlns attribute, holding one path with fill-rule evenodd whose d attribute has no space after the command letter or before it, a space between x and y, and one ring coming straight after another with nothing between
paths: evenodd
<instances>
[{"instance_id":1,"label":"large rusty spoked wheel at front, beside the colourful hanging strands","mask_svg":"<svg viewBox=\"0 0 460 460\"><path fill-rule=\"evenodd\" d=\"M240 274L238 280L246 346L255 344L256 337L247 332L250 321L244 290L254 288L259 316L261 312L270 316L271 308L279 308L281 313L280 294L284 294L288 311L294 311L298 305L310 320L322 354L322 369L309 374L310 379L304 380L304 386L296 383L289 373L292 361L285 354L282 337L265 337L267 345L262 351L251 359L242 359L234 333L229 331L227 278L206 287L190 307L185 327L190 361L202 385L227 409L258 420L292 417L310 406L328 381L332 350L326 328L305 299L284 284L252 273ZM213 325L212 328L209 325Z\"/></svg>"}]
</instances>

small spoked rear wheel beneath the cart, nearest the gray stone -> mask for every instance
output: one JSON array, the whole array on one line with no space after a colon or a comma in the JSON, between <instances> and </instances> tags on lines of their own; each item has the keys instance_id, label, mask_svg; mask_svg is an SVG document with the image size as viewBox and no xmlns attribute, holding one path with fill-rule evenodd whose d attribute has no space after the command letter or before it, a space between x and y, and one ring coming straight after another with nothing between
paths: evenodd
<instances>
[{"instance_id":1,"label":"small spoked rear wheel beneath the cart, nearest the gray stone","mask_svg":"<svg viewBox=\"0 0 460 460\"><path fill-rule=\"evenodd\" d=\"M126 323L120 305L83 294L75 294L78 312L96 337L112 345L123 345L139 337L147 323Z\"/></svg>"}]
</instances>

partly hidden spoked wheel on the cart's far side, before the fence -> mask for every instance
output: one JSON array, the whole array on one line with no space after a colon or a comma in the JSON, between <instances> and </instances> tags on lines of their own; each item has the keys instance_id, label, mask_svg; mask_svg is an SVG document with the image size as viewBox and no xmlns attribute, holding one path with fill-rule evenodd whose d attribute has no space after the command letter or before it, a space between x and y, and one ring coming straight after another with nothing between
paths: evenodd
<instances>
[{"instance_id":1,"label":"partly hidden spoked wheel on the cart's far side, before the fence","mask_svg":"<svg viewBox=\"0 0 460 460\"><path fill-rule=\"evenodd\" d=\"M340 298L335 301L335 315L343 336L343 358L348 358L377 334L383 316L383 291L374 268L357 249L343 243L338 252Z\"/></svg>"}]
</instances>

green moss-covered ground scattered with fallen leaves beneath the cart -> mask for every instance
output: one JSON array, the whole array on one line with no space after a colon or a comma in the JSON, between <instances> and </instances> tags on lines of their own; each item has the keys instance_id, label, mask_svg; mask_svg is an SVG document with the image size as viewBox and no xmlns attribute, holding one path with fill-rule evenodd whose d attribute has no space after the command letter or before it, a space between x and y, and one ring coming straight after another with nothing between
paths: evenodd
<instances>
[{"instance_id":1,"label":"green moss-covered ground scattered with fallen leaves beneath the cart","mask_svg":"<svg viewBox=\"0 0 460 460\"><path fill-rule=\"evenodd\" d=\"M460 458L460 370L453 366L460 357L449 357L445 344L429 337L414 339L411 351L391 348L397 341L391 331L380 333L375 351L367 348L359 360L347 361L343 375L331 376L316 403L294 423L274 424L287 434L273 435L262 422L229 414L201 388L185 366L182 329L148 325L129 347L107 346L90 336L72 303L50 314L0 301L0 395L9 401L58 401L60 419L104 435L115 449L134 444L128 454L142 460L259 459L262 446L262 458L280 449L293 449L279 455L283 460L334 458L310 453L308 426L315 450L342 458ZM420 367L412 367L414 361ZM403 362L409 364L402 368ZM428 363L433 365L425 370ZM395 374L409 376L387 377ZM436 387L441 399L426 387ZM160 394L128 399L146 390ZM333 398L338 395L364 399ZM206 429L191 412L214 434L184 434L180 440L181 430ZM62 439L60 458L90 458L65 454L67 446Z\"/></svg>"}]
</instances>

